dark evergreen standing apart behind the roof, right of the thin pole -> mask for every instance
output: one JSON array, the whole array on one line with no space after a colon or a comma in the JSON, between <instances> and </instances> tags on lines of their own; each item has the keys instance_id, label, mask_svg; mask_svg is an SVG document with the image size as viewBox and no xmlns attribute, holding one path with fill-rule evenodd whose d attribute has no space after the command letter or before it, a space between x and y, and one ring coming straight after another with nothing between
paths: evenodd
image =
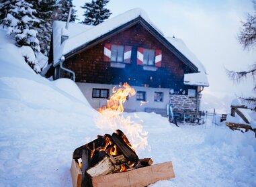
<instances>
[{"instance_id":1,"label":"dark evergreen standing apart behind the roof, right of the thin pole","mask_svg":"<svg viewBox=\"0 0 256 187\"><path fill-rule=\"evenodd\" d=\"M85 9L85 16L84 21L87 25L98 25L102 23L105 19L108 19L112 14L109 9L104 8L105 5L110 0L96 0L91 1L91 3L85 3L85 5L81 8Z\"/></svg>"}]
</instances>

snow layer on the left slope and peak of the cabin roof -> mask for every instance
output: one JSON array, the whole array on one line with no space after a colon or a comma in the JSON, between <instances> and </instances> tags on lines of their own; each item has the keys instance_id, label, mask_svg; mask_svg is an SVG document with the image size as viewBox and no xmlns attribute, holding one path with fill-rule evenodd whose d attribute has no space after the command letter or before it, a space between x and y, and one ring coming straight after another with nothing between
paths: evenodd
<instances>
[{"instance_id":1,"label":"snow layer on the left slope and peak of the cabin roof","mask_svg":"<svg viewBox=\"0 0 256 187\"><path fill-rule=\"evenodd\" d=\"M84 32L81 32L80 34L73 34L73 36L69 36L69 40L66 40L62 43L60 46L60 27L64 27L65 25L58 25L54 21L53 25L53 32L57 31L57 33L54 34L54 38L57 40L55 43L58 44L58 46L54 46L54 64L58 63L58 60L62 55L68 54L69 52L72 52L75 50L75 48L79 48L79 46L83 46L84 44L87 44L88 42L91 42L92 40L95 40L96 38L99 38L100 36L103 36L104 34L107 34L108 32L120 27L121 25L124 25L125 23L128 23L129 21L132 21L136 19L137 17L142 17L147 23L149 23L152 27L157 29L157 31L163 35L163 33L151 22L151 20L148 18L148 15L146 15L146 12L142 9L136 8L131 9L129 11L126 11L125 13L122 13L120 15L117 15L116 17L113 17L112 19L108 19L107 21L104 21L103 23L100 23L99 25L90 27L88 29L85 28ZM64 22L65 23L65 22ZM77 24L82 25L82 24ZM70 25L69 29L75 27L74 25ZM69 32L71 34L71 32Z\"/></svg>"}]
</instances>

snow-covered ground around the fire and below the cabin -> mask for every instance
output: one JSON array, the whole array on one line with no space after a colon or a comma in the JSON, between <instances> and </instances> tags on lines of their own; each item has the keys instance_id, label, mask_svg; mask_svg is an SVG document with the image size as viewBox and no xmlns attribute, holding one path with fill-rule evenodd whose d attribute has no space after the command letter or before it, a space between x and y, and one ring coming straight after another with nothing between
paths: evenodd
<instances>
[{"instance_id":1,"label":"snow-covered ground around the fire and below the cabin","mask_svg":"<svg viewBox=\"0 0 256 187\"><path fill-rule=\"evenodd\" d=\"M253 132L210 118L176 127L154 113L128 115L148 131L151 149L139 157L173 162L176 177L152 186L256 186ZM97 127L100 118L73 82L35 74L0 30L0 186L72 186L74 149L109 133Z\"/></svg>"}]
</instances>

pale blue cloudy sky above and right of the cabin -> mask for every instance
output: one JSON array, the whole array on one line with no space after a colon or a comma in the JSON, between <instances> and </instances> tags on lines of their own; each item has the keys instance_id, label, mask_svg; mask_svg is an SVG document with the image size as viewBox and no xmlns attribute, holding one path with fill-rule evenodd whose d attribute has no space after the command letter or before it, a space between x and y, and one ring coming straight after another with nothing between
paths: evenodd
<instances>
[{"instance_id":1,"label":"pale blue cloudy sky above and right of the cabin","mask_svg":"<svg viewBox=\"0 0 256 187\"><path fill-rule=\"evenodd\" d=\"M80 6L85 2L73 0L81 20ZM165 36L181 38L204 64L210 82L204 90L206 103L217 98L222 100L217 102L229 103L236 95L254 94L252 79L234 84L225 70L245 70L255 62L256 52L243 50L237 41L241 21L253 13L250 0L110 0L107 5L111 17L136 7L144 9Z\"/></svg>"}]
</instances>

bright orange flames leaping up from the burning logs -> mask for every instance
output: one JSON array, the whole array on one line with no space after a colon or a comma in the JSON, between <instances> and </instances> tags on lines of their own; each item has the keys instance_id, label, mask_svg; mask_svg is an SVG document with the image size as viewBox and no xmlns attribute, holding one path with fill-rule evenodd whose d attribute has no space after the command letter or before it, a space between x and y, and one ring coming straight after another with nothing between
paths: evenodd
<instances>
[{"instance_id":1,"label":"bright orange flames leaping up from the burning logs","mask_svg":"<svg viewBox=\"0 0 256 187\"><path fill-rule=\"evenodd\" d=\"M122 131L124 131L124 133L129 137L133 147L127 137L122 137L122 139L124 139L126 144L133 150L136 149L136 151L139 151L139 149L150 149L146 137L147 133L142 131L142 125L133 121L130 116L124 117L124 115L121 115L124 111L126 98L128 96L132 97L136 94L134 88L131 88L131 86L126 82L123 86L119 86L119 88L118 86L114 86L112 92L112 97L107 101L108 105L99 109L101 117L95 118L97 127L103 130L104 133L106 131L112 133L116 129L122 129ZM105 148L108 147L107 144L108 143L106 143ZM113 154L116 154L115 151L116 147L108 150L109 153L111 152Z\"/></svg>"}]
</instances>

